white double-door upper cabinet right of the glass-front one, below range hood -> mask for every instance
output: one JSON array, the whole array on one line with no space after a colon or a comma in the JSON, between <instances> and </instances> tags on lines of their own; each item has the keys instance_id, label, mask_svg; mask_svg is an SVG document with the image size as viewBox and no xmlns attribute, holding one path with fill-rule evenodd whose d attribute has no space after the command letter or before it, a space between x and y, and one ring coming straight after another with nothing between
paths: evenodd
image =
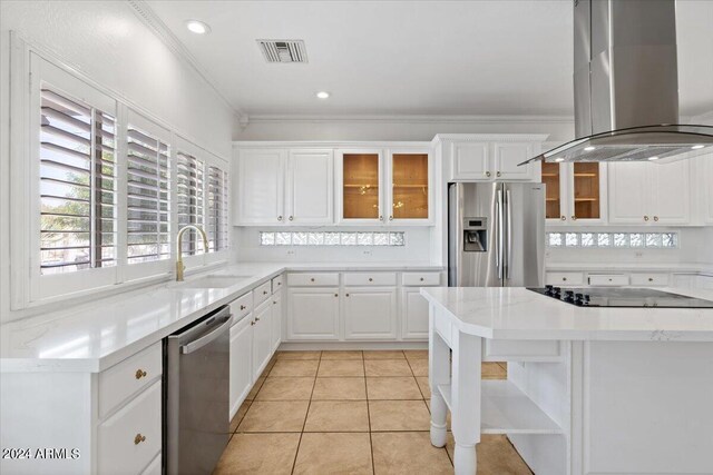
<instances>
[{"instance_id":1,"label":"white double-door upper cabinet right of the glass-front one, below range hood","mask_svg":"<svg viewBox=\"0 0 713 475\"><path fill-rule=\"evenodd\" d=\"M690 160L672 164L609 164L609 222L691 222Z\"/></svg>"}]
</instances>

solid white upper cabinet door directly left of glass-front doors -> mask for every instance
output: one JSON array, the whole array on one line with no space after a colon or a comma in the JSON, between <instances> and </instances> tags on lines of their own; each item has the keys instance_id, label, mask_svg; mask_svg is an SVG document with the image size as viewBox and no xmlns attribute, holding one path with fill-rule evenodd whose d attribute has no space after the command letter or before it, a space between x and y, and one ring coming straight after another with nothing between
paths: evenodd
<instances>
[{"instance_id":1,"label":"solid white upper cabinet door directly left of glass-front doors","mask_svg":"<svg viewBox=\"0 0 713 475\"><path fill-rule=\"evenodd\" d=\"M334 220L332 150L290 150L287 159L287 221L322 225Z\"/></svg>"}]
</instances>

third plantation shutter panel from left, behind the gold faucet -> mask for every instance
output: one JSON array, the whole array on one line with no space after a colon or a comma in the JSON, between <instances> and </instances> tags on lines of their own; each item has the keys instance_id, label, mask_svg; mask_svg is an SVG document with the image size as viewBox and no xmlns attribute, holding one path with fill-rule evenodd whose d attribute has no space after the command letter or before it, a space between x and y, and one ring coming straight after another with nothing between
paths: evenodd
<instances>
[{"instance_id":1,"label":"third plantation shutter panel from left, behind the gold faucet","mask_svg":"<svg viewBox=\"0 0 713 475\"><path fill-rule=\"evenodd\" d=\"M186 225L204 226L204 162L186 152L176 154L176 201L178 228ZM184 255L206 251L203 239L193 229L183 236Z\"/></svg>"}]
</instances>

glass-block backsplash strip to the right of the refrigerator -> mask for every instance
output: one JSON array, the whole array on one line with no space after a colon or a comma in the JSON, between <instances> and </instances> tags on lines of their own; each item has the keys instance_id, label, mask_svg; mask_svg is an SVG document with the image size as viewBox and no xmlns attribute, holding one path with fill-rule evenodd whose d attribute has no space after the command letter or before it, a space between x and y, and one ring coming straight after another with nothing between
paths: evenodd
<instances>
[{"instance_id":1,"label":"glass-block backsplash strip to the right of the refrigerator","mask_svg":"<svg viewBox=\"0 0 713 475\"><path fill-rule=\"evenodd\" d=\"M547 232L548 247L648 248L678 247L677 232Z\"/></svg>"}]
</instances>

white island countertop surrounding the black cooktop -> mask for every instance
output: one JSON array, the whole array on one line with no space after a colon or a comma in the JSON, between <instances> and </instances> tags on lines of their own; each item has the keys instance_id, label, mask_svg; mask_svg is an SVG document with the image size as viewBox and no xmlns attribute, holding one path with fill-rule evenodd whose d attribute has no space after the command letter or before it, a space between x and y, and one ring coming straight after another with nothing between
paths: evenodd
<instances>
[{"instance_id":1,"label":"white island countertop surrounding the black cooktop","mask_svg":"<svg viewBox=\"0 0 713 475\"><path fill-rule=\"evenodd\" d=\"M713 300L713 290L662 290ZM484 338L713 342L713 308L584 308L522 287L431 287L421 295L461 331Z\"/></svg>"}]
</instances>

